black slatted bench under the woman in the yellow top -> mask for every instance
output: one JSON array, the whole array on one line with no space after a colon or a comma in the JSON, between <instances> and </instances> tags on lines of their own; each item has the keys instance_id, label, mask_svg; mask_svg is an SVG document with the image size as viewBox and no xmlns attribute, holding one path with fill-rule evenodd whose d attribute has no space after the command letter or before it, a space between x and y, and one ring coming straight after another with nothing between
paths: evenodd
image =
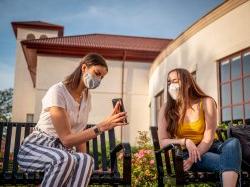
<instances>
[{"instance_id":1,"label":"black slatted bench under the woman in the yellow top","mask_svg":"<svg viewBox=\"0 0 250 187\"><path fill-rule=\"evenodd\" d=\"M150 127L154 145L154 153L157 165L158 186L164 184L184 186L188 184L210 183L220 186L219 173L216 172L192 172L183 170L183 157L180 145L168 145L160 148L157 127ZM227 138L227 132L224 129L217 129L217 135L221 141ZM250 186L250 171L242 171L242 186Z\"/></svg>"}]
</instances>

